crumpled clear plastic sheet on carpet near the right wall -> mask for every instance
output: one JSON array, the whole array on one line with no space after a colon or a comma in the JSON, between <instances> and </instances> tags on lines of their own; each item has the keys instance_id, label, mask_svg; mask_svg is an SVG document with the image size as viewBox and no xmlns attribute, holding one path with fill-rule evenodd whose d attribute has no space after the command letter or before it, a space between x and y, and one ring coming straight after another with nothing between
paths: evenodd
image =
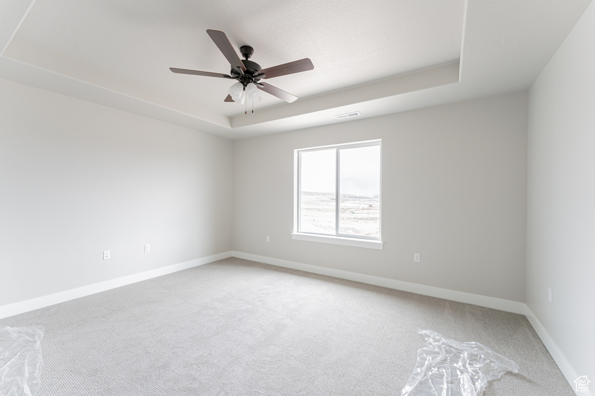
<instances>
[{"instance_id":1,"label":"crumpled clear plastic sheet on carpet near the right wall","mask_svg":"<svg viewBox=\"0 0 595 396\"><path fill-rule=\"evenodd\" d=\"M425 348L401 396L482 396L488 381L507 371L519 372L512 360L480 343L459 343L436 331L425 334Z\"/></svg>"}]
</instances>

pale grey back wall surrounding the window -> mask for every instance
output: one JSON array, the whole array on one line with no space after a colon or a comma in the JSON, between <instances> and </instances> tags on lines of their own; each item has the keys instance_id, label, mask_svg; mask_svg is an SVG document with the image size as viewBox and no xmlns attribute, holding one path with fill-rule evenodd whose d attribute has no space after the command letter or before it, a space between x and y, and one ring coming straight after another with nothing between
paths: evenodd
<instances>
[{"instance_id":1,"label":"pale grey back wall surrounding the window","mask_svg":"<svg viewBox=\"0 0 595 396\"><path fill-rule=\"evenodd\" d=\"M384 249L291 239L293 150L379 138ZM524 302L526 164L527 93L237 140L233 250Z\"/></svg>"}]
</instances>

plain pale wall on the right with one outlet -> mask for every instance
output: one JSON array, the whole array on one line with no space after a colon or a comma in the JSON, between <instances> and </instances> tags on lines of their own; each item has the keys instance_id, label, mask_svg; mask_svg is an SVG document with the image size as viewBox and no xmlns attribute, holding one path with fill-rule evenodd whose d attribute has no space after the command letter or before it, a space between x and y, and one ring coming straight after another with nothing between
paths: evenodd
<instances>
[{"instance_id":1,"label":"plain pale wall on the right with one outlet","mask_svg":"<svg viewBox=\"0 0 595 396\"><path fill-rule=\"evenodd\" d=\"M531 87L527 188L527 306L592 389L595 4Z\"/></svg>"}]
</instances>

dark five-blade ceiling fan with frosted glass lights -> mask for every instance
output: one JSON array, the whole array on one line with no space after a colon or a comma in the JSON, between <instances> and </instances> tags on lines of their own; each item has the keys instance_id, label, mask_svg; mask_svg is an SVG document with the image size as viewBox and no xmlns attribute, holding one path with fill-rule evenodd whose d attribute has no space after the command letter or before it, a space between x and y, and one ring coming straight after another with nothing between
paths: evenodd
<instances>
[{"instance_id":1,"label":"dark five-blade ceiling fan with frosted glass lights","mask_svg":"<svg viewBox=\"0 0 595 396\"><path fill-rule=\"evenodd\" d=\"M215 42L215 45L219 47L221 52L223 52L223 55L227 58L227 61L230 63L230 74L176 68L170 68L170 70L174 73L206 75L207 77L229 78L230 80L239 81L238 83L231 85L228 90L229 94L227 95L224 102L238 102L240 104L244 104L246 99L252 100L252 103L260 102L262 98L260 97L259 90L261 90L283 99L285 102L292 103L297 99L297 96L293 96L284 90L273 87L271 84L259 83L258 81L260 81L261 78L273 78L280 75L299 73L300 71L314 69L312 61L308 58L262 69L261 66L256 62L248 60L254 53L254 49L252 47L247 45L240 47L242 56L246 58L240 60L239 56L237 56L236 50L233 49L233 46L231 46L231 43L223 31L209 29L206 31L206 33L211 36L211 39Z\"/></svg>"}]
</instances>

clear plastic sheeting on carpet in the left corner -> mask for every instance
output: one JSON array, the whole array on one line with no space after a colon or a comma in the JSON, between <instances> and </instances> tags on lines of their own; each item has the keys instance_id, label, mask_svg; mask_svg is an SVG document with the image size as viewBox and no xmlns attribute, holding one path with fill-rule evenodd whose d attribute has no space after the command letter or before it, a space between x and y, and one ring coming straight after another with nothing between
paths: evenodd
<instances>
[{"instance_id":1,"label":"clear plastic sheeting on carpet in the left corner","mask_svg":"<svg viewBox=\"0 0 595 396\"><path fill-rule=\"evenodd\" d=\"M43 327L0 326L0 395L35 396L41 385Z\"/></svg>"}]
</instances>

